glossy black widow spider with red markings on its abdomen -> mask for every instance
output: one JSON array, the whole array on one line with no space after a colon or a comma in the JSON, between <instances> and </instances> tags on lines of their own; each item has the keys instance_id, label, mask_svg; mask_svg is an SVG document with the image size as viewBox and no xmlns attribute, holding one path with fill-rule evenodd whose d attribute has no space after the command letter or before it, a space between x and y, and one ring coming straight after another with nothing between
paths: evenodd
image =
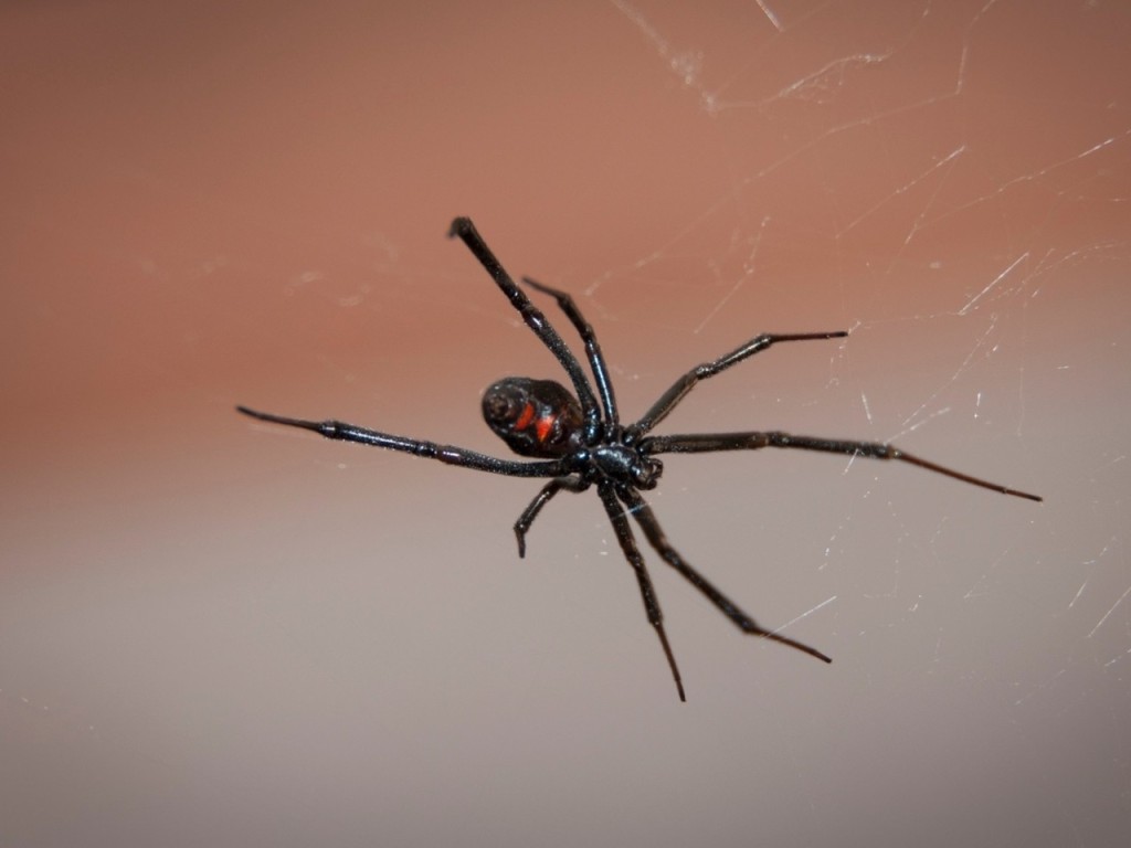
<instances>
[{"instance_id":1,"label":"glossy black widow spider with red markings on its abdomen","mask_svg":"<svg viewBox=\"0 0 1131 848\"><path fill-rule=\"evenodd\" d=\"M465 448L449 444L407 439L402 435L379 433L375 430L359 427L340 421L303 421L288 418L270 413L260 413L245 406L236 409L260 421L275 424L286 424L320 433L327 439L340 439L347 442L360 442L377 448L389 448L417 457L438 459L448 465L474 468L491 474L504 474L511 477L549 477L550 481L535 495L523 514L515 522L515 535L518 538L518 555L526 555L526 533L534 523L542 508L555 494L584 492L590 486L597 487L597 495L604 504L608 520L616 533L616 539L624 552L624 557L636 572L640 585L640 596L644 599L648 621L656 629L659 642L672 669L675 687L680 700L685 701L683 681L675 664L675 656L664 632L663 615L659 600L648 576L644 556L637 548L629 526L631 516L645 538L656 552L676 571L685 577L692 586L706 595L726 617L733 621L744 633L771 639L775 642L796 648L812 657L831 663L832 660L815 648L784 637L771 630L766 630L754 623L753 618L740 609L729 598L716 589L706 578L696 571L671 546L661 529L640 490L655 488L663 474L664 466L656 458L657 453L707 453L723 450L758 450L759 448L802 448L805 450L844 453L852 457L870 457L873 459L898 459L917 465L930 471L944 474L948 477L972 483L983 488L992 488L1002 494L1027 497L1030 501L1042 499L1034 494L1019 492L995 483L973 477L968 474L946 468L925 459L912 456L890 444L880 442L857 442L841 439L819 439L806 435L791 435L774 431L751 431L744 433L693 433L685 435L648 435L659 422L687 397L700 380L715 377L722 371L736 365L743 360L765 351L778 341L808 341L810 339L843 338L845 330L832 332L795 332L762 334L746 341L741 347L720 356L714 362L697 365L681 377L672 387L661 395L651 408L636 423L623 425L616 413L616 401L613 398L613 386L608 380L605 358L597 344L593 327L581 315L573 298L556 288L536 283L529 277L523 282L530 288L547 294L558 301L562 312L573 325L585 343L585 353L593 370L597 392L601 396L598 406L589 379L581 364L562 341L546 317L533 304L523 291L515 284L503 269L491 249L480 236L469 218L456 218L451 223L449 237L459 236L475 258L480 260L487 272L507 295L511 305L518 310L526 326L558 357L577 397L552 380L532 380L526 377L508 377L487 388L483 395L483 417L495 434L507 442L510 449L524 457L535 457L539 462L516 462L498 459Z\"/></svg>"}]
</instances>

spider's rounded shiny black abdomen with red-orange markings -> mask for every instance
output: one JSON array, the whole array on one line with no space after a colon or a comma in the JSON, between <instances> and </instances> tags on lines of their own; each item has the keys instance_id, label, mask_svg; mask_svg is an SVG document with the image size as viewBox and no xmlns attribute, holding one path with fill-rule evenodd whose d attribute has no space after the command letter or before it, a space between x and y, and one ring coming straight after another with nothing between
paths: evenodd
<instances>
[{"instance_id":1,"label":"spider's rounded shiny black abdomen with red-orange markings","mask_svg":"<svg viewBox=\"0 0 1131 848\"><path fill-rule=\"evenodd\" d=\"M562 457L577 447L584 415L577 399L553 380L507 377L483 392L483 419L524 457Z\"/></svg>"}]
</instances>

